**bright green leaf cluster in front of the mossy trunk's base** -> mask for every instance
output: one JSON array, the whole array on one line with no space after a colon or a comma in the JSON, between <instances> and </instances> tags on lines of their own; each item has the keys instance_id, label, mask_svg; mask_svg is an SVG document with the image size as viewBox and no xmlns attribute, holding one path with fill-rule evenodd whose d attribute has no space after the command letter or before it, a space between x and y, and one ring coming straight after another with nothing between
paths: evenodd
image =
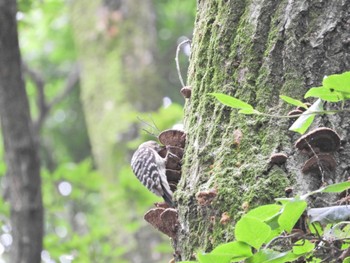
<instances>
[{"instance_id":1,"label":"bright green leaf cluster in front of the mossy trunk's base","mask_svg":"<svg viewBox=\"0 0 350 263\"><path fill-rule=\"evenodd\" d=\"M321 262L320 250L337 251L338 255L349 249L350 222L329 222L322 226L318 221L306 221L306 233L295 227L307 208L307 197L316 193L340 193L350 188L343 182L320 188L295 198L278 198L277 203L259 206L245 214L235 226L233 242L221 244L210 253L199 252L200 263L284 263L303 258L307 262ZM337 210L331 210L337 213ZM319 217L322 221L322 215ZM345 225L345 227L343 227ZM297 231L298 230L298 231ZM340 241L335 245L336 241ZM329 255L326 255L329 256ZM328 258L328 260L333 258ZM343 262L349 262L347 257ZM195 262L195 261L183 261ZM303 261L304 262L304 261ZM325 262L325 261L322 261ZM327 261L329 262L329 261Z\"/></svg>"}]
</instances>

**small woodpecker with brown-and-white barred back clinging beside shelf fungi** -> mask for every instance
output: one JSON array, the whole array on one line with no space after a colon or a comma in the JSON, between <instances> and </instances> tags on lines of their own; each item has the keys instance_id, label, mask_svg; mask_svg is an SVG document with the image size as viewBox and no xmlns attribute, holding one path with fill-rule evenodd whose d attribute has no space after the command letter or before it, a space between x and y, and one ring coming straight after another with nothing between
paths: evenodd
<instances>
[{"instance_id":1,"label":"small woodpecker with brown-and-white barred back clinging beside shelf fungi","mask_svg":"<svg viewBox=\"0 0 350 263\"><path fill-rule=\"evenodd\" d=\"M155 141L142 143L131 158L131 168L148 190L163 197L168 205L174 207L172 191L165 175L166 158L158 154L160 149L161 146Z\"/></svg>"}]
</instances>

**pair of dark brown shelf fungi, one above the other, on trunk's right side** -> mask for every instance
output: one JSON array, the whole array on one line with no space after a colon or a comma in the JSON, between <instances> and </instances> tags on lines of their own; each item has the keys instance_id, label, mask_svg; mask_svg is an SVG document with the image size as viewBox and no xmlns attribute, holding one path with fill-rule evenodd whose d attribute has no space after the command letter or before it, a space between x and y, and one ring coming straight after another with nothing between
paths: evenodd
<instances>
[{"instance_id":1,"label":"pair of dark brown shelf fungi, one above the other, on trunk's right side","mask_svg":"<svg viewBox=\"0 0 350 263\"><path fill-rule=\"evenodd\" d=\"M300 137L295 147L310 157L303 165L304 174L335 170L337 162L333 153L340 147L340 137L334 130L317 128Z\"/></svg>"}]
</instances>

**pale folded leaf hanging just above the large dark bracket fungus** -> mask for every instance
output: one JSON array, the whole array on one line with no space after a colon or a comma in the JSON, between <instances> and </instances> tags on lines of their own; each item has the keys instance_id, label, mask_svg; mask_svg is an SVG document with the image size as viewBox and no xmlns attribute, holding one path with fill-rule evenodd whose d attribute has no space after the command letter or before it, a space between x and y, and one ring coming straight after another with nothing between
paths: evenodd
<instances>
[{"instance_id":1,"label":"pale folded leaf hanging just above the large dark bracket fungus","mask_svg":"<svg viewBox=\"0 0 350 263\"><path fill-rule=\"evenodd\" d=\"M318 99L309 109L303 112L303 114L293 123L289 130L304 134L315 118L315 114L311 113L314 111L322 111L322 105L322 100Z\"/></svg>"}]
</instances>

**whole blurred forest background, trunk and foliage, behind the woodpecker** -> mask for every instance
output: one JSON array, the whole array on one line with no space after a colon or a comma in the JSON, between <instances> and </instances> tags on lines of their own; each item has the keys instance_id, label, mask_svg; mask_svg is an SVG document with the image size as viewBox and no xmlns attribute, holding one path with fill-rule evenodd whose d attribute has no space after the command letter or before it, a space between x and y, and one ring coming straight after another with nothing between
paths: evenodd
<instances>
[{"instance_id":1,"label":"whole blurred forest background, trunk and foliage, behind the woodpecker","mask_svg":"<svg viewBox=\"0 0 350 263\"><path fill-rule=\"evenodd\" d=\"M23 73L40 145L42 262L167 262L167 238L143 214L159 198L129 166L147 129L182 121L177 45L194 0L18 2ZM180 54L186 75L189 50ZM2 143L2 140L1 140ZM12 236L0 145L0 262Z\"/></svg>"}]
</instances>

